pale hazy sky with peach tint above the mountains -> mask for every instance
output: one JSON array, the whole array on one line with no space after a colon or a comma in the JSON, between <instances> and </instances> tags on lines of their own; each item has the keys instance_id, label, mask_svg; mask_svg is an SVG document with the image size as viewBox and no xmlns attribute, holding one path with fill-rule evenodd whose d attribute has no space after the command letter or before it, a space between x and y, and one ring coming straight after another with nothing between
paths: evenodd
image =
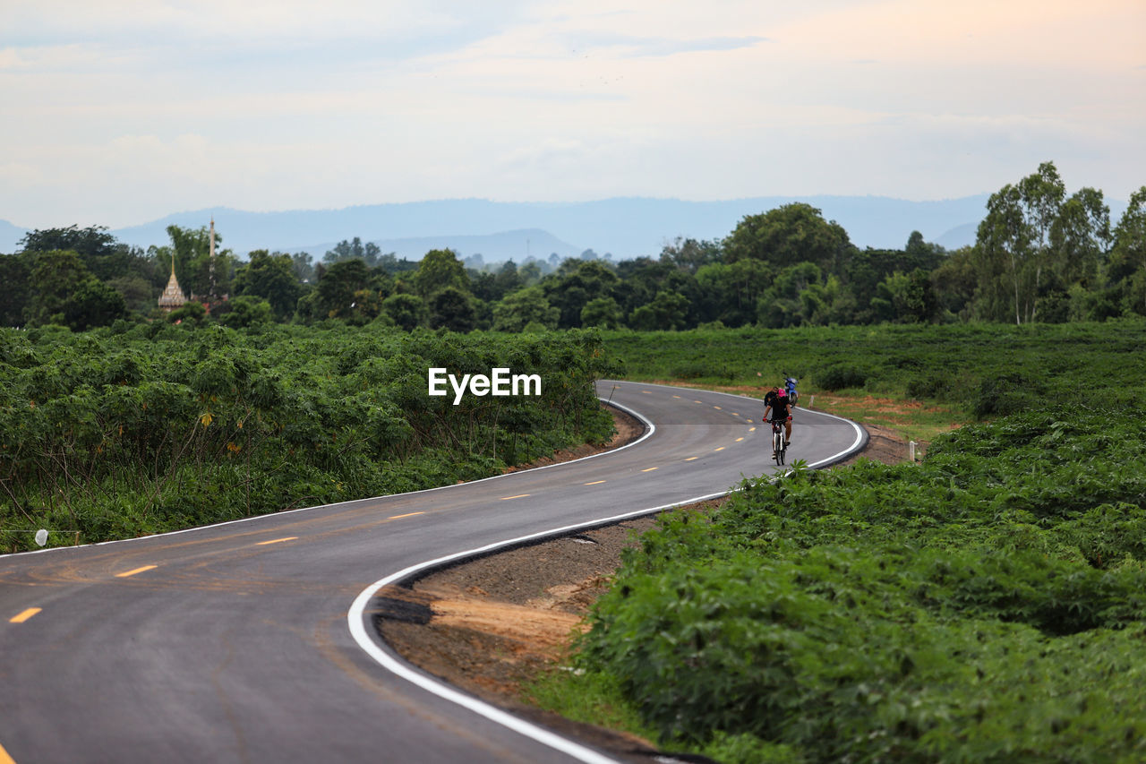
<instances>
[{"instance_id":1,"label":"pale hazy sky with peach tint above the mountains","mask_svg":"<svg viewBox=\"0 0 1146 764\"><path fill-rule=\"evenodd\" d=\"M1144 0L0 0L0 219L1146 184Z\"/></svg>"}]
</instances>

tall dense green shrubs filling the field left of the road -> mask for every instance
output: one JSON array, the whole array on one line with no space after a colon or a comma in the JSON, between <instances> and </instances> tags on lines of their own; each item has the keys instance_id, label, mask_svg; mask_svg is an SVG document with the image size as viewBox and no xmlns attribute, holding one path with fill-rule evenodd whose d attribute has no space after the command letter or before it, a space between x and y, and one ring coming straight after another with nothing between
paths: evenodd
<instances>
[{"instance_id":1,"label":"tall dense green shrubs filling the field left of the road","mask_svg":"<svg viewBox=\"0 0 1146 764\"><path fill-rule=\"evenodd\" d=\"M541 397L427 396L426 369L539 374ZM592 332L332 322L0 329L0 548L140 533L495 474L599 442Z\"/></svg>"}]
</instances>

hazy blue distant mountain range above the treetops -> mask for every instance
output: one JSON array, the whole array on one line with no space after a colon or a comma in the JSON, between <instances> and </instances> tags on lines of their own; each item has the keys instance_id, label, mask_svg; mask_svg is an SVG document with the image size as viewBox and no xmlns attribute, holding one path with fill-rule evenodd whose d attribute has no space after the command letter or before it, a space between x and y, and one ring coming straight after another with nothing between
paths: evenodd
<instances>
[{"instance_id":1,"label":"hazy blue distant mountain range above the treetops","mask_svg":"<svg viewBox=\"0 0 1146 764\"><path fill-rule=\"evenodd\" d=\"M267 249L306 251L321 259L337 242L358 236L363 243L376 243L383 252L409 259L445 248L463 258L480 254L486 262L512 258L520 263L554 252L564 258L587 249L628 259L657 256L677 237L720 240L747 215L804 202L843 226L858 247L901 249L911 232L919 231L925 240L956 249L974 242L987 198L987 194L937 202L884 196L761 196L722 202L619 197L568 203L466 198L286 212L212 208L110 233L119 241L147 248L170 243L170 225L198 228L213 217L223 248L243 257L251 250ZM60 223L61 227L68 225ZM26 232L0 220L0 252L15 251Z\"/></svg>"}]
</instances>

